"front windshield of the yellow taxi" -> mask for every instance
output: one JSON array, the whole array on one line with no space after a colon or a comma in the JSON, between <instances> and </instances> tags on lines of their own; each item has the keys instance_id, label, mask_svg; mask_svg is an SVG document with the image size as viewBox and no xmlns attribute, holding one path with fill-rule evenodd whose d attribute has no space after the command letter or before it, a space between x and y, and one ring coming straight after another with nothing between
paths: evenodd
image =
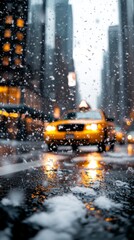
<instances>
[{"instance_id":1,"label":"front windshield of the yellow taxi","mask_svg":"<svg viewBox=\"0 0 134 240\"><path fill-rule=\"evenodd\" d=\"M90 120L101 120L102 116L97 111L87 112L69 112L63 116L64 120L70 119L90 119Z\"/></svg>"}]
</instances>

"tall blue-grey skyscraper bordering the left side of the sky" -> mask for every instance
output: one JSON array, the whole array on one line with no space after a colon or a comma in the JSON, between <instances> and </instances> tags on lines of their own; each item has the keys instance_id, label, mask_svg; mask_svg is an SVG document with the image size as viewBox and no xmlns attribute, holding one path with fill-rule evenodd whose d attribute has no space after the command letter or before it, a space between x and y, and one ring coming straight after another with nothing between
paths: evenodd
<instances>
[{"instance_id":1,"label":"tall blue-grey skyscraper bordering the left side of the sky","mask_svg":"<svg viewBox=\"0 0 134 240\"><path fill-rule=\"evenodd\" d=\"M70 74L75 78L73 63L73 17L68 0L48 0L46 5L46 86L44 94L49 112L55 105L61 112L74 107L75 86L69 86ZM74 79L75 82L75 79Z\"/></svg>"}]
</instances>

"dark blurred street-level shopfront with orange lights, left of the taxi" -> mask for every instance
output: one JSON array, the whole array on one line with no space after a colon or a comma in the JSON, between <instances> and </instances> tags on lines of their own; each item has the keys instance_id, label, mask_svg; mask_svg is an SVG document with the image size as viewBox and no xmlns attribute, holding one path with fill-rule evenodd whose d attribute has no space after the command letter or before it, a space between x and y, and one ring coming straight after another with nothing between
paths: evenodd
<instances>
[{"instance_id":1,"label":"dark blurred street-level shopfront with orange lights, left of the taxi","mask_svg":"<svg viewBox=\"0 0 134 240\"><path fill-rule=\"evenodd\" d=\"M45 116L23 104L0 104L0 138L42 140Z\"/></svg>"}]
</instances>

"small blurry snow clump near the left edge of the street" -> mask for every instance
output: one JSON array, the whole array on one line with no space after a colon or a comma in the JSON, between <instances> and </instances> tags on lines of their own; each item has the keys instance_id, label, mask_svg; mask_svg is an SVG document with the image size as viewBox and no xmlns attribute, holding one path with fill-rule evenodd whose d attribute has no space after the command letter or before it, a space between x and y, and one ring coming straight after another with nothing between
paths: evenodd
<instances>
[{"instance_id":1,"label":"small blurry snow clump near the left edge of the street","mask_svg":"<svg viewBox=\"0 0 134 240\"><path fill-rule=\"evenodd\" d=\"M1 200L1 203L4 206L11 205L11 206L17 207L17 206L21 206L23 200L24 200L23 192L14 190L9 193L7 198L3 198Z\"/></svg>"}]
</instances>

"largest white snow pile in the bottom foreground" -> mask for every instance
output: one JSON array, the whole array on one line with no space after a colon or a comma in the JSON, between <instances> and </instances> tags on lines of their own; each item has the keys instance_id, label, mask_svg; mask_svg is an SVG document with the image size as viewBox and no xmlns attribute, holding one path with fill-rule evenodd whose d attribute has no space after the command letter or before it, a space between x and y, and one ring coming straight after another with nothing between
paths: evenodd
<instances>
[{"instance_id":1,"label":"largest white snow pile in the bottom foreground","mask_svg":"<svg viewBox=\"0 0 134 240\"><path fill-rule=\"evenodd\" d=\"M40 231L34 239L72 239L72 235L79 229L79 221L86 214L84 204L74 195L68 194L48 199L44 206L48 212L33 214L26 220L28 223L47 228Z\"/></svg>"}]
</instances>

